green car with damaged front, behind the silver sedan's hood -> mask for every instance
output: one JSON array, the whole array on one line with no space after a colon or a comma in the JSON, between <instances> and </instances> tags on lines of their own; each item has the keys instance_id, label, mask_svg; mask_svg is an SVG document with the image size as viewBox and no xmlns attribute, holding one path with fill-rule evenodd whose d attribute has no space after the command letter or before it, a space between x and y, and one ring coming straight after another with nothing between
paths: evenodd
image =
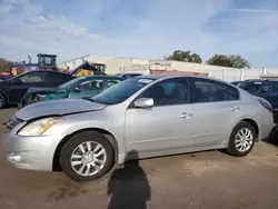
<instances>
[{"instance_id":1,"label":"green car with damaged front, behind the silver sedan's hood","mask_svg":"<svg viewBox=\"0 0 278 209\"><path fill-rule=\"evenodd\" d=\"M39 101L93 97L122 80L120 77L89 76L76 78L57 88L30 88L18 104L18 109Z\"/></svg>"}]
</instances>

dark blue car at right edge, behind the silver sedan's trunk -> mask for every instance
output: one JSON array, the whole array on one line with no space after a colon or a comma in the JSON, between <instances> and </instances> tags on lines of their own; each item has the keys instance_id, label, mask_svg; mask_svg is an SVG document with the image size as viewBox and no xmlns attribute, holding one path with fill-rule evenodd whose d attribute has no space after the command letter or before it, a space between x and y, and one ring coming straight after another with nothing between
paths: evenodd
<instances>
[{"instance_id":1,"label":"dark blue car at right edge, behind the silver sedan's trunk","mask_svg":"<svg viewBox=\"0 0 278 209\"><path fill-rule=\"evenodd\" d=\"M246 80L240 82L238 87L254 96L266 99L272 108L278 108L278 80Z\"/></svg>"}]
</instances>

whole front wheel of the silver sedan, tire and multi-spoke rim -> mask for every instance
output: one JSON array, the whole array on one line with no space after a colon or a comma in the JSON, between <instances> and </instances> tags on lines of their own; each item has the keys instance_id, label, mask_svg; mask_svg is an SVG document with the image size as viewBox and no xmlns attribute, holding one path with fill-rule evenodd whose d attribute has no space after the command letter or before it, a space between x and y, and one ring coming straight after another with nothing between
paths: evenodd
<instances>
[{"instance_id":1,"label":"whole front wheel of the silver sedan, tire and multi-spoke rim","mask_svg":"<svg viewBox=\"0 0 278 209\"><path fill-rule=\"evenodd\" d=\"M88 142L90 142L89 147L91 149L89 149ZM103 152L103 155L100 155L100 152ZM75 157L72 158L73 153ZM97 131L82 131L71 137L63 145L60 153L60 165L70 179L85 182L105 176L112 168L113 158L112 145L106 137ZM72 166L72 163L75 165ZM87 171L91 173L88 175Z\"/></svg>"}]
</instances>

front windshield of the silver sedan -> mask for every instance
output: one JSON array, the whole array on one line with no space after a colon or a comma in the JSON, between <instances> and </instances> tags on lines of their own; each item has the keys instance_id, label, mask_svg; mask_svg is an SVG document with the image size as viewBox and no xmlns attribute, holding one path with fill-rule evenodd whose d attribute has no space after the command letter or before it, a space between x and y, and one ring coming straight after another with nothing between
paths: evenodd
<instances>
[{"instance_id":1,"label":"front windshield of the silver sedan","mask_svg":"<svg viewBox=\"0 0 278 209\"><path fill-rule=\"evenodd\" d=\"M110 87L102 93L91 98L91 100L105 104L120 103L152 81L153 79L131 78Z\"/></svg>"}]
</instances>

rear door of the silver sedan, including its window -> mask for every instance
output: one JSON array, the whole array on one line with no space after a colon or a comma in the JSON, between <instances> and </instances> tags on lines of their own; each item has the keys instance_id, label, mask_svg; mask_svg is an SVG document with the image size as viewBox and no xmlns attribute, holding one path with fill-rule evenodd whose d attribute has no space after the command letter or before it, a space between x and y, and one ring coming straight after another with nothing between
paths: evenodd
<instances>
[{"instance_id":1,"label":"rear door of the silver sedan, including its window","mask_svg":"<svg viewBox=\"0 0 278 209\"><path fill-rule=\"evenodd\" d=\"M195 146L222 145L240 116L239 92L236 88L209 79L191 79Z\"/></svg>"}]
</instances>

